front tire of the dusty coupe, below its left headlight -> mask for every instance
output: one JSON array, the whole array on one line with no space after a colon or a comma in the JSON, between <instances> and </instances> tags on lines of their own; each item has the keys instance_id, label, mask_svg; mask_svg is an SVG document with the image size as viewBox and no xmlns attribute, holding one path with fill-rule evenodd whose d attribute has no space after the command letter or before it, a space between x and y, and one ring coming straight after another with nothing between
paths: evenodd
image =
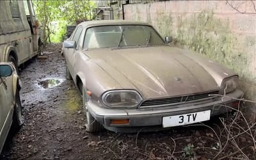
<instances>
[{"instance_id":1,"label":"front tire of the dusty coupe, below its left headlight","mask_svg":"<svg viewBox=\"0 0 256 160\"><path fill-rule=\"evenodd\" d=\"M97 133L103 130L103 126L95 120L95 118L92 116L90 111L88 111L88 108L86 107L86 91L83 90L83 109L84 109L84 115L86 116L86 132L90 133Z\"/></svg>"}]
</instances>

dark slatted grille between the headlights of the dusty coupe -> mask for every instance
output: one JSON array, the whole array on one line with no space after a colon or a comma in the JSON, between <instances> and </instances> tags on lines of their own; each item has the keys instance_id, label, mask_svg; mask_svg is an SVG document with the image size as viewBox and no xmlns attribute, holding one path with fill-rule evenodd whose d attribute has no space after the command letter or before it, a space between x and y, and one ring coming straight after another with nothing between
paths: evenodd
<instances>
[{"instance_id":1,"label":"dark slatted grille between the headlights of the dusty coupe","mask_svg":"<svg viewBox=\"0 0 256 160\"><path fill-rule=\"evenodd\" d=\"M219 91L195 93L193 95L182 95L177 97L167 97L162 99L148 99L142 102L140 107L157 107L157 106L168 106L172 104L182 104L185 102L192 102L197 100L213 99L216 96L209 96L211 94L218 94Z\"/></svg>"}]
</instances>

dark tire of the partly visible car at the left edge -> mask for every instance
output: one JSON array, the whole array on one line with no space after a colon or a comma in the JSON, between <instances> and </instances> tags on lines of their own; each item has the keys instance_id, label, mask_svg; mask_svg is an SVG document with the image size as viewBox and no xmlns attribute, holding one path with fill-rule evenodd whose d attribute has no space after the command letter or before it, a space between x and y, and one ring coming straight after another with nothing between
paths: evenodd
<instances>
[{"instance_id":1,"label":"dark tire of the partly visible car at the left edge","mask_svg":"<svg viewBox=\"0 0 256 160\"><path fill-rule=\"evenodd\" d=\"M20 93L19 93L19 90L17 90L15 95L15 106L13 111L13 128L15 130L19 130L23 124L24 124L24 115L22 113Z\"/></svg>"}]
</instances>

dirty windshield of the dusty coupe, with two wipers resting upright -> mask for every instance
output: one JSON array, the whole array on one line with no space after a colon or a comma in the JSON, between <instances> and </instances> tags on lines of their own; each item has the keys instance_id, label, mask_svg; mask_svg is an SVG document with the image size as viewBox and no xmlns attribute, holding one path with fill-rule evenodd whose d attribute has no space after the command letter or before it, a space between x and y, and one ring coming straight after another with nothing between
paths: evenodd
<instances>
[{"instance_id":1,"label":"dirty windshield of the dusty coupe, with two wipers resting upright","mask_svg":"<svg viewBox=\"0 0 256 160\"><path fill-rule=\"evenodd\" d=\"M163 39L150 26L97 26L86 30L83 48L141 47L147 45L164 45Z\"/></svg>"}]
</instances>

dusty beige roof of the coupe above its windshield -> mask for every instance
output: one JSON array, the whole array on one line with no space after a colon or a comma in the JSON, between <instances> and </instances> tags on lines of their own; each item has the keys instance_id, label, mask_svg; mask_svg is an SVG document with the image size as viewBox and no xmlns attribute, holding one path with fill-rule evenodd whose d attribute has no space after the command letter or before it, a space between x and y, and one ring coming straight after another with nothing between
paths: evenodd
<instances>
[{"instance_id":1,"label":"dusty beige roof of the coupe above its windshield","mask_svg":"<svg viewBox=\"0 0 256 160\"><path fill-rule=\"evenodd\" d=\"M151 26L147 22L136 21L136 20L91 20L85 21L78 24L79 26L83 26L85 28L93 27L93 26L111 26L111 25L146 25Z\"/></svg>"}]
</instances>

